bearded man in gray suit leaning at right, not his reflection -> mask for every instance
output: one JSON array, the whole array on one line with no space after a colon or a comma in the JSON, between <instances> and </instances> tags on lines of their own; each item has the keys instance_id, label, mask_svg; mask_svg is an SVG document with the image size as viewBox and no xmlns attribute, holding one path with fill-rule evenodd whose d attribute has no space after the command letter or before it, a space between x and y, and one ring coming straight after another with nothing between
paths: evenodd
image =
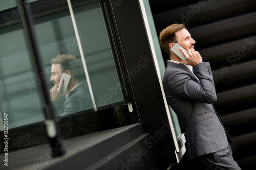
<instances>
[{"instance_id":1,"label":"bearded man in gray suit leaning at right, not his reflection","mask_svg":"<svg viewBox=\"0 0 256 170\"><path fill-rule=\"evenodd\" d=\"M186 61L170 51L175 43L188 52L180 48ZM212 105L217 95L210 64L202 61L195 43L183 24L171 25L160 33L160 44L170 56L163 77L167 102L185 133L189 159L196 158L207 169L241 169L228 144L233 141Z\"/></svg>"}]
</instances>

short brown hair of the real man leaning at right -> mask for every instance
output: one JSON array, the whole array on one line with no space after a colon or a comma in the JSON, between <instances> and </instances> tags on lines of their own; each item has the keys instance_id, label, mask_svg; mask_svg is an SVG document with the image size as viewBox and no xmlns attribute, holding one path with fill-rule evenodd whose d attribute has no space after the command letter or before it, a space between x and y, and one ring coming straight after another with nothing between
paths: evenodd
<instances>
[{"instance_id":1,"label":"short brown hair of the real man leaning at right","mask_svg":"<svg viewBox=\"0 0 256 170\"><path fill-rule=\"evenodd\" d=\"M170 55L169 43L177 42L177 37L175 33L183 28L186 28L184 23L181 23L181 24L175 23L173 25L166 27L160 32L160 35L159 35L160 45L168 55Z\"/></svg>"}]
</instances>

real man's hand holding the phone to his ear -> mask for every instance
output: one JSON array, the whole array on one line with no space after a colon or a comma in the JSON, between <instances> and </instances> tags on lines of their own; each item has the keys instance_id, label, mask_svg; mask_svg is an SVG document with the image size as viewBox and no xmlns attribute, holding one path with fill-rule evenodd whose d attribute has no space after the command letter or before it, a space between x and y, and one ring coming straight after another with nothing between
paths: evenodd
<instances>
[{"instance_id":1,"label":"real man's hand holding the phone to his ear","mask_svg":"<svg viewBox=\"0 0 256 170\"><path fill-rule=\"evenodd\" d=\"M184 50L182 50L182 48L180 48L180 51L187 58L187 61L181 60L181 62L183 64L191 65L194 67L199 62L203 62L201 55L197 51L195 51L195 49L193 49L193 50L189 49L188 54L186 54L186 52Z\"/></svg>"}]
</instances>

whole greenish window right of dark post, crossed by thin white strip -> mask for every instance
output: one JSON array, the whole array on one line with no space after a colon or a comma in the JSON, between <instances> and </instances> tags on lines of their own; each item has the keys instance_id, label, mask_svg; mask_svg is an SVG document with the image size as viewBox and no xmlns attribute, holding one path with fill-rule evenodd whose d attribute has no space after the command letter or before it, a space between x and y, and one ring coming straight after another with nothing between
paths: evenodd
<instances>
[{"instance_id":1,"label":"whole greenish window right of dark post, crossed by thin white strip","mask_svg":"<svg viewBox=\"0 0 256 170\"><path fill-rule=\"evenodd\" d=\"M83 86L85 88L86 94L84 95L87 95L87 98L83 98L81 102L79 102L80 99L73 100L71 101L73 104L71 104L68 96L62 96L57 102L54 102L56 110L58 110L57 116L83 110L101 109L101 107L112 107L113 104L123 103L124 100L110 40L98 1L76 1L76 4L72 5L74 6L72 9L75 23L72 22L68 9L34 20L36 36L46 70L44 74L49 82L49 89L52 89L53 83L58 84L61 77L59 74L56 81L51 79L51 72L53 71L51 60L53 58L62 55L63 59L64 55L72 55L78 59L81 66L78 81L74 83L71 78L68 88L70 90L75 85L82 83L78 87ZM75 29L77 29L77 35ZM77 38L81 42L80 48ZM68 70L69 68L66 67L65 69ZM61 66L61 74L66 70L63 70ZM73 74L72 71L71 73ZM80 96L77 97L81 98ZM85 107L80 107L81 105Z\"/></svg>"}]
</instances>

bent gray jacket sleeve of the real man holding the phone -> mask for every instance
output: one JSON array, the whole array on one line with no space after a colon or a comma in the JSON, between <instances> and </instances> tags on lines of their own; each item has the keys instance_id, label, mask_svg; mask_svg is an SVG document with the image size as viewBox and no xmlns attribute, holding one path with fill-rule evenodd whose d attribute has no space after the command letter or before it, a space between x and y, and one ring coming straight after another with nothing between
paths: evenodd
<instances>
[{"instance_id":1,"label":"bent gray jacket sleeve of the real man holding the phone","mask_svg":"<svg viewBox=\"0 0 256 170\"><path fill-rule=\"evenodd\" d=\"M209 62L199 63L194 69L200 83L191 79L187 71L180 70L168 75L170 89L181 99L202 103L216 102L217 95Z\"/></svg>"}]
</instances>

